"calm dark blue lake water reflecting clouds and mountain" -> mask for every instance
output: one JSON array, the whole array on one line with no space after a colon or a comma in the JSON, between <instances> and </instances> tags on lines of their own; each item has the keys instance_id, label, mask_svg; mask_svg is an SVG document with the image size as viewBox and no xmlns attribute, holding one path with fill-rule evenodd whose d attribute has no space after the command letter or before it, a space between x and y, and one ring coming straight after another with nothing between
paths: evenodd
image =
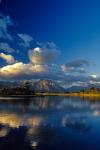
<instances>
[{"instance_id":1,"label":"calm dark blue lake water reflecting clouds and mountain","mask_svg":"<svg viewBox=\"0 0 100 150\"><path fill-rule=\"evenodd\" d=\"M100 150L100 101L0 98L0 150Z\"/></svg>"}]
</instances>

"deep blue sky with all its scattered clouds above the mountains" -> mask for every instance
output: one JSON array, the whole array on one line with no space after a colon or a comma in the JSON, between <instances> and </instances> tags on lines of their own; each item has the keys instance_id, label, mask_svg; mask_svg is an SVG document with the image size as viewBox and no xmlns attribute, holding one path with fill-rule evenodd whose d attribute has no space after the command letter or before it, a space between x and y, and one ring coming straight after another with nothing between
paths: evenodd
<instances>
[{"instance_id":1,"label":"deep blue sky with all its scattered clouds above the mountains","mask_svg":"<svg viewBox=\"0 0 100 150\"><path fill-rule=\"evenodd\" d=\"M100 84L99 0L0 0L0 80Z\"/></svg>"}]
</instances>

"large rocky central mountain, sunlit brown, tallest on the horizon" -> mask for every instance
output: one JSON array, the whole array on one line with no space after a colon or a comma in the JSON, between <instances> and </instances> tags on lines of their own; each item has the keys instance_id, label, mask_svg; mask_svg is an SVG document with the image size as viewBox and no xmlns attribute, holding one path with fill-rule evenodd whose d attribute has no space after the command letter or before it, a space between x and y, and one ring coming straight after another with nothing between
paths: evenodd
<instances>
[{"instance_id":1,"label":"large rocky central mountain, sunlit brown, tallest on the horizon","mask_svg":"<svg viewBox=\"0 0 100 150\"><path fill-rule=\"evenodd\" d=\"M52 80L39 80L34 83L35 92L61 93L64 88Z\"/></svg>"}]
</instances>

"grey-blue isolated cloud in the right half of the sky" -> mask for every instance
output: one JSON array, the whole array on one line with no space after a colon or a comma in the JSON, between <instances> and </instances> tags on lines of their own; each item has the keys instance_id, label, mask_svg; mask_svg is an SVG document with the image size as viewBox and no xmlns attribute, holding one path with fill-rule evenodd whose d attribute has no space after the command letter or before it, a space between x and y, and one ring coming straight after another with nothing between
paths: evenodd
<instances>
[{"instance_id":1,"label":"grey-blue isolated cloud in the right half of the sky","mask_svg":"<svg viewBox=\"0 0 100 150\"><path fill-rule=\"evenodd\" d=\"M89 65L89 62L85 59L77 59L72 62L61 65L61 69L65 73L77 72L85 73L85 67Z\"/></svg>"}]
</instances>

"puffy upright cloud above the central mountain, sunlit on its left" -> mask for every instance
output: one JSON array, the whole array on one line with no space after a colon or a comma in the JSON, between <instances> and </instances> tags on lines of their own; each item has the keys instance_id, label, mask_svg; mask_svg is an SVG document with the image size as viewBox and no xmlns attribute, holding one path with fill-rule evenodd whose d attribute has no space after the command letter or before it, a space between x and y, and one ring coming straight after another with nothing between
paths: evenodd
<instances>
[{"instance_id":1,"label":"puffy upright cloud above the central mountain, sunlit on its left","mask_svg":"<svg viewBox=\"0 0 100 150\"><path fill-rule=\"evenodd\" d=\"M43 65L53 63L59 56L60 52L54 46L49 44L36 47L29 51L29 58L33 64Z\"/></svg>"}]
</instances>

